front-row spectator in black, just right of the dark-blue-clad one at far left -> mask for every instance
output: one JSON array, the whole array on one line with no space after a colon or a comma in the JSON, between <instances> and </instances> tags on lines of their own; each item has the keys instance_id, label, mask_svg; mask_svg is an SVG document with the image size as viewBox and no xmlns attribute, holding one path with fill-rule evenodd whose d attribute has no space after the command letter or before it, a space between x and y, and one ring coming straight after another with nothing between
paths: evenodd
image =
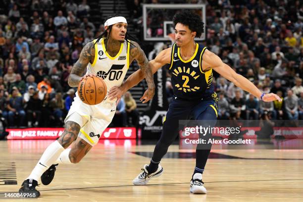
<instances>
[{"instance_id":1,"label":"front-row spectator in black, just right of the dark-blue-clad one at far left","mask_svg":"<svg viewBox=\"0 0 303 202\"><path fill-rule=\"evenodd\" d=\"M37 127L41 117L42 101L39 99L38 92L34 92L30 100L27 102L27 126L32 127L32 123Z\"/></svg>"}]
</instances>

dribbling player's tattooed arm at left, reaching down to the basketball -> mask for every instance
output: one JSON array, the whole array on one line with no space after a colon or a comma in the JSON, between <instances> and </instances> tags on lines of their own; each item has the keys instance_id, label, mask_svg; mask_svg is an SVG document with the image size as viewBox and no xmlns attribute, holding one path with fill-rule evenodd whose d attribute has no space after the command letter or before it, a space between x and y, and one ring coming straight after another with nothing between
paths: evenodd
<instances>
[{"instance_id":1,"label":"dribbling player's tattooed arm at left, reaching down to the basketball","mask_svg":"<svg viewBox=\"0 0 303 202\"><path fill-rule=\"evenodd\" d=\"M95 59L95 48L94 48L94 42L87 43L83 49L81 50L80 56L78 61L74 64L73 68L71 69L70 75L68 77L68 85L70 87L77 87L79 82L91 75L87 75L82 77L85 68L87 67L88 63L93 63Z\"/></svg>"}]
</instances>

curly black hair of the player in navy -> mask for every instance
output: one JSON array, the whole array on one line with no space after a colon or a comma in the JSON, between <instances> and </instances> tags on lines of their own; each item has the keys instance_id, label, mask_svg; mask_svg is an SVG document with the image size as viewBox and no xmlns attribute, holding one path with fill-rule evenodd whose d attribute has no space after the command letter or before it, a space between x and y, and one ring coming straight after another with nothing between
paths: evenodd
<instances>
[{"instance_id":1,"label":"curly black hair of the player in navy","mask_svg":"<svg viewBox=\"0 0 303 202\"><path fill-rule=\"evenodd\" d=\"M201 37L204 33L204 23L202 22L201 16L190 10L184 10L180 13L175 14L173 17L174 25L181 23L187 25L192 32L196 32L196 37Z\"/></svg>"}]
</instances>

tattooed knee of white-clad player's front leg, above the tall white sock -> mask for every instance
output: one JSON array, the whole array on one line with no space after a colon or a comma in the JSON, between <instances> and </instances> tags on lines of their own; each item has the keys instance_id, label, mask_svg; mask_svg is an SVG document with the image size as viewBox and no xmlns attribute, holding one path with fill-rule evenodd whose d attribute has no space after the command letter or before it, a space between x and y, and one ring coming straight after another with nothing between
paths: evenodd
<instances>
[{"instance_id":1,"label":"tattooed knee of white-clad player's front leg, above the tall white sock","mask_svg":"<svg viewBox=\"0 0 303 202\"><path fill-rule=\"evenodd\" d=\"M65 123L64 132L58 139L58 142L64 149L68 148L68 146L70 146L70 144L72 144L76 140L79 131L80 126L78 123L73 121L67 121Z\"/></svg>"}]
</instances>

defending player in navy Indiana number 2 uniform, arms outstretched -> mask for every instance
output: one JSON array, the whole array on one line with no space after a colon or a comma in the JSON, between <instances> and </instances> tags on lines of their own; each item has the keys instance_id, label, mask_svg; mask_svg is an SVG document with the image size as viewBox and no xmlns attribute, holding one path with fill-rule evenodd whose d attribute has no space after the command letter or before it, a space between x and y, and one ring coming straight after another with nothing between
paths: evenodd
<instances>
[{"instance_id":1,"label":"defending player in navy Indiana number 2 uniform, arms outstretched","mask_svg":"<svg viewBox=\"0 0 303 202\"><path fill-rule=\"evenodd\" d=\"M142 172L133 180L134 185L146 185L151 178L163 173L163 168L159 163L178 135L179 120L193 118L198 121L202 120L200 123L206 123L205 126L215 125L218 99L212 84L212 70L262 101L281 101L275 94L260 92L252 82L237 74L216 54L195 42L195 37L200 37L203 33L203 22L199 15L183 11L174 16L173 22L176 43L171 48L162 50L150 63L152 73L163 65L170 64L174 99L169 105L162 134L154 148L151 162L141 169ZM127 78L122 86L113 87L110 90L109 98L121 97L143 78L143 72L137 70ZM197 147L196 152L196 167L190 183L190 192L206 194L202 173L210 147L206 150Z\"/></svg>"}]
</instances>

